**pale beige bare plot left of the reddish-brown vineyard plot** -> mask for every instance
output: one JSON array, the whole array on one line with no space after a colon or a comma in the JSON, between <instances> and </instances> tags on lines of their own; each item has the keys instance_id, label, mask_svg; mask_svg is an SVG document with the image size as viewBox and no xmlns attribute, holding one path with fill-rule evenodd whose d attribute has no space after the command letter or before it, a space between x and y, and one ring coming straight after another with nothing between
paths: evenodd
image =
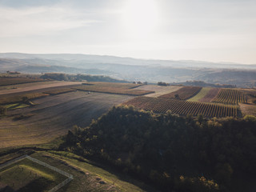
<instances>
[{"instance_id":1,"label":"pale beige bare plot left of the reddish-brown vineyard plot","mask_svg":"<svg viewBox=\"0 0 256 192\"><path fill-rule=\"evenodd\" d=\"M157 98L162 94L170 94L176 90L181 89L183 86L155 86L155 85L144 85L135 88L134 90L150 90L154 91L152 94L146 94L146 97Z\"/></svg>"}]
</instances>

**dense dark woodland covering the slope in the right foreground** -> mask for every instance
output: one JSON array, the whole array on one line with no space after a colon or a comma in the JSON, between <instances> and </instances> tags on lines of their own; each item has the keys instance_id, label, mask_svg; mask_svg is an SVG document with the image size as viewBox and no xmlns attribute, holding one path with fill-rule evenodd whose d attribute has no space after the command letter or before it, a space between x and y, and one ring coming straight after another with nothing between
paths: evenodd
<instances>
[{"instance_id":1,"label":"dense dark woodland covering the slope in the right foreground","mask_svg":"<svg viewBox=\"0 0 256 192\"><path fill-rule=\"evenodd\" d=\"M256 118L182 118L118 106L89 127L74 127L60 149L162 191L234 191L235 182L255 178Z\"/></svg>"}]
</instances>

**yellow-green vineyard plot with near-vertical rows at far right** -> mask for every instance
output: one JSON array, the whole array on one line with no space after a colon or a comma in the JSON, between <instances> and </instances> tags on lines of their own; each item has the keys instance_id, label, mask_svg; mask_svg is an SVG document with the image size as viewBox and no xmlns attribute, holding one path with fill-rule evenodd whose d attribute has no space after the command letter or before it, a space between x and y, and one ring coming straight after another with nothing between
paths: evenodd
<instances>
[{"instance_id":1,"label":"yellow-green vineyard plot with near-vertical rows at far right","mask_svg":"<svg viewBox=\"0 0 256 192\"><path fill-rule=\"evenodd\" d=\"M242 91L234 89L221 89L212 102L221 102L225 104L237 105L238 102L247 102L247 99Z\"/></svg>"}]
</instances>

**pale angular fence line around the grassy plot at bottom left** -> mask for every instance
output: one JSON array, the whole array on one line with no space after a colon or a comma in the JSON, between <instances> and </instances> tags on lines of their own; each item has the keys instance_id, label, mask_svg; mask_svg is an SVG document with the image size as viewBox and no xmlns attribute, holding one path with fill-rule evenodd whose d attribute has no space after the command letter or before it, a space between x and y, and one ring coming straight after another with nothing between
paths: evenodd
<instances>
[{"instance_id":1,"label":"pale angular fence line around the grassy plot at bottom left","mask_svg":"<svg viewBox=\"0 0 256 192\"><path fill-rule=\"evenodd\" d=\"M68 182L70 182L73 179L73 175L72 174L66 173L65 171L60 170L60 169L58 169L55 166L50 166L46 162L42 162L42 161L38 160L37 158L32 158L32 157L30 157L27 154L22 155L21 157L18 157L18 158L14 158L13 160L10 160L8 162L2 163L2 165L0 165L0 170L3 169L6 166L10 166L10 165L14 164L15 162L20 162L20 161L22 161L25 158L29 159L32 162L36 162L36 163L38 163L41 166L46 166L50 170L54 170L54 171L58 172L59 174L62 174L62 175L67 177L66 180L64 180L63 182L60 182L57 186L54 186L54 188L49 190L49 192L54 192L56 190L59 190L60 188L62 188L62 186L65 186Z\"/></svg>"}]
</instances>

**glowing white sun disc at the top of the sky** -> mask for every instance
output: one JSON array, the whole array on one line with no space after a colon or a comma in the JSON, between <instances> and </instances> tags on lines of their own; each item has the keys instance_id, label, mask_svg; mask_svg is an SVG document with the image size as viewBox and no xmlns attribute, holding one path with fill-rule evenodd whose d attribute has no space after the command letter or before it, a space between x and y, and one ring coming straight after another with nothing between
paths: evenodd
<instances>
[{"instance_id":1,"label":"glowing white sun disc at the top of the sky","mask_svg":"<svg viewBox=\"0 0 256 192\"><path fill-rule=\"evenodd\" d=\"M158 25L155 0L127 0L123 10L123 23L130 36L145 37Z\"/></svg>"}]
</instances>

